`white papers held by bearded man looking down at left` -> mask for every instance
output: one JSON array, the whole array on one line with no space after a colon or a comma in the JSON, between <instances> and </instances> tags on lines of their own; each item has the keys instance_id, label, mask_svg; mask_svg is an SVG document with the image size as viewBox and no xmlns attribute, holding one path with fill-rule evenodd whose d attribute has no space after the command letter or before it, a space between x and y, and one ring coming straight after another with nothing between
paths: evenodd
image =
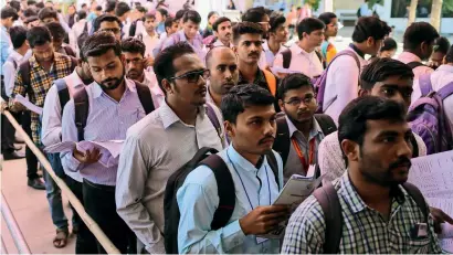
<instances>
[{"instance_id":1,"label":"white papers held by bearded man looking down at left","mask_svg":"<svg viewBox=\"0 0 453 255\"><path fill-rule=\"evenodd\" d=\"M48 146L44 148L45 152L57 153L57 152L70 152L74 148L78 151L85 153L86 151L92 151L94 148L99 150L101 159L99 163L106 168L110 168L118 164L119 153L122 152L124 140L109 140L109 141L63 141L53 146Z\"/></svg>"}]
</instances>

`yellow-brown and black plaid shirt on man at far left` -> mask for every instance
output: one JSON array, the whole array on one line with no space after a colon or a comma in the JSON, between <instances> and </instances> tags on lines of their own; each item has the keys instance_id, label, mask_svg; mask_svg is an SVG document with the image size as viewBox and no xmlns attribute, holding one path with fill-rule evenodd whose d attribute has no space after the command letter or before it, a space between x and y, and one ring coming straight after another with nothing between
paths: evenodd
<instances>
[{"instance_id":1,"label":"yellow-brown and black plaid shirt on man at far left","mask_svg":"<svg viewBox=\"0 0 453 255\"><path fill-rule=\"evenodd\" d=\"M45 95L48 94L49 88L52 86L53 82L59 78L63 78L72 73L72 62L71 57L54 53L54 63L50 72L45 72L44 68L38 63L34 55L29 59L30 63L30 83L23 84L22 75L20 68L15 75L14 88L12 95L20 94L23 97L25 94L29 95L29 99L32 104L43 107ZM9 107L14 111L13 98L11 97ZM33 142L40 145L39 134L40 116L35 113L31 113L31 130L33 136Z\"/></svg>"}]
</instances>

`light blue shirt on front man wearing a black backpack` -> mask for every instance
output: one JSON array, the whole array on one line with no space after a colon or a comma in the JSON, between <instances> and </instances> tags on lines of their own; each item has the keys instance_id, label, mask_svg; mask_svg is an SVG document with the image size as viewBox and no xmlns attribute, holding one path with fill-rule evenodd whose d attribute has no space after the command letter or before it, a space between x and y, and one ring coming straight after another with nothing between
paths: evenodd
<instances>
[{"instance_id":1,"label":"light blue shirt on front man wearing a black backpack","mask_svg":"<svg viewBox=\"0 0 453 255\"><path fill-rule=\"evenodd\" d=\"M282 187L283 162L278 153L274 151L274 155L277 158L278 181ZM233 214L228 225L217 231L211 230L211 222L219 205L217 180L208 167L194 169L177 193L181 212L178 230L179 253L280 253L278 240L257 244L256 236L245 236L239 224L239 220L253 209L271 205L278 196L278 185L267 160L264 159L261 168L256 169L239 155L233 146L221 151L219 156L225 161L234 181L236 199Z\"/></svg>"}]
</instances>

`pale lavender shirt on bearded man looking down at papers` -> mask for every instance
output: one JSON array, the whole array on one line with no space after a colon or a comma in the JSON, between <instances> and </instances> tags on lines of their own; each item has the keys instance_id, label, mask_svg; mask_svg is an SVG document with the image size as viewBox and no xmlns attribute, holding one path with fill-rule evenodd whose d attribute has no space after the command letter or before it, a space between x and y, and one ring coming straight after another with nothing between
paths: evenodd
<instances>
[{"instance_id":1,"label":"pale lavender shirt on bearded man looking down at papers","mask_svg":"<svg viewBox=\"0 0 453 255\"><path fill-rule=\"evenodd\" d=\"M105 94L97 83L86 87L89 109L85 140L125 140L127 129L146 116L135 83L130 79L125 81L126 91L119 102ZM63 110L62 141L78 141L74 116L74 99L71 99ZM116 184L118 166L106 168L99 162L85 166L75 159L72 152L61 153L61 158L65 170L80 171L83 179L96 184Z\"/></svg>"}]
</instances>

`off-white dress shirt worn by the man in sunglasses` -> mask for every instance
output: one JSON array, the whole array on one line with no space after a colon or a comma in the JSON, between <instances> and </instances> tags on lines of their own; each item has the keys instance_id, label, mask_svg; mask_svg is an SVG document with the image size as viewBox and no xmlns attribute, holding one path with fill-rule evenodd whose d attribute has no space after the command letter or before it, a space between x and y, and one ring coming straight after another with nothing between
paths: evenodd
<instances>
[{"instance_id":1,"label":"off-white dress shirt worn by the man in sunglasses","mask_svg":"<svg viewBox=\"0 0 453 255\"><path fill-rule=\"evenodd\" d=\"M164 103L127 131L119 156L116 208L151 254L165 253L161 233L167 180L202 147L222 150L204 107L199 108L192 126Z\"/></svg>"}]
</instances>

